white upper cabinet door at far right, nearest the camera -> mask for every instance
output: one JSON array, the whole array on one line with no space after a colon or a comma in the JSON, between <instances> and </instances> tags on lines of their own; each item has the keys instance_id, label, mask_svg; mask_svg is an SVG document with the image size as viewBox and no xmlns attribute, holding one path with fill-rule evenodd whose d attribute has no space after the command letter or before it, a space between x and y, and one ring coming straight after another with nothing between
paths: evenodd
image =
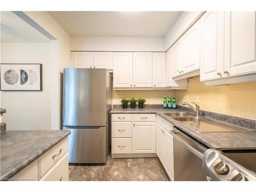
<instances>
[{"instance_id":1,"label":"white upper cabinet door at far right, nearest the camera","mask_svg":"<svg viewBox=\"0 0 256 192\"><path fill-rule=\"evenodd\" d=\"M255 12L225 12L224 77L256 72Z\"/></svg>"}]
</instances>

